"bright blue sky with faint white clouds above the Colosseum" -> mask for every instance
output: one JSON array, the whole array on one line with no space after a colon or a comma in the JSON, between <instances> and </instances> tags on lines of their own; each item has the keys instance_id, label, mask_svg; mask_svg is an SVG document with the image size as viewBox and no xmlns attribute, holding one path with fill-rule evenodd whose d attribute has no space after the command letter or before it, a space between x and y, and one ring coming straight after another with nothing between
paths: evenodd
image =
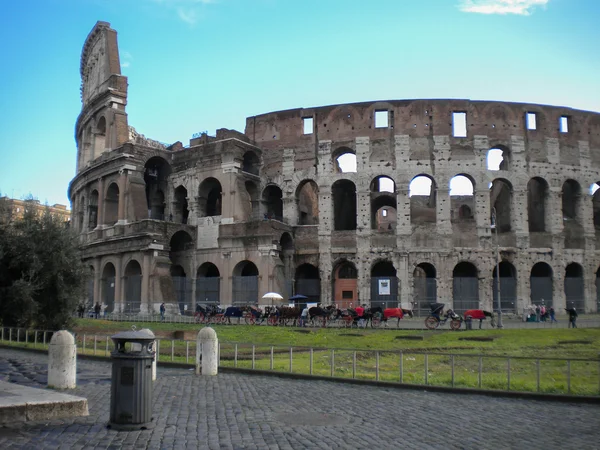
<instances>
[{"instance_id":1,"label":"bright blue sky with faint white clouds above the Colosseum","mask_svg":"<svg viewBox=\"0 0 600 450\"><path fill-rule=\"evenodd\" d=\"M0 192L69 204L79 58L117 30L129 124L187 144L245 118L383 99L600 111L598 0L14 0L0 16Z\"/></svg>"}]
</instances>

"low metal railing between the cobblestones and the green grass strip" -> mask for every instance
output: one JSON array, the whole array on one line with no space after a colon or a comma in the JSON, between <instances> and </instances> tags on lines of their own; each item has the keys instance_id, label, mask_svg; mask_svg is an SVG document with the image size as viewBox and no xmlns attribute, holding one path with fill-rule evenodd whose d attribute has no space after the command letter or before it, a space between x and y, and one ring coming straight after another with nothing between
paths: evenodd
<instances>
[{"instance_id":1,"label":"low metal railing between the cobblestones and the green grass strip","mask_svg":"<svg viewBox=\"0 0 600 450\"><path fill-rule=\"evenodd\" d=\"M47 349L52 331L2 328L0 342ZM80 355L110 357L110 336L75 334ZM195 364L196 341L157 339L159 362ZM600 396L600 359L531 358L417 350L219 343L219 367L418 386Z\"/></svg>"}]
</instances>

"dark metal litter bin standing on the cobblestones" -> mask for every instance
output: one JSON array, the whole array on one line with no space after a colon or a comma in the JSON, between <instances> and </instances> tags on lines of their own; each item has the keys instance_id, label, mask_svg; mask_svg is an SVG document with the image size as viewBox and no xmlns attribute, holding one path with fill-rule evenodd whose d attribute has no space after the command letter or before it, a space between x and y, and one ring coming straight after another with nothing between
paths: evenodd
<instances>
[{"instance_id":1,"label":"dark metal litter bin standing on the cobblestones","mask_svg":"<svg viewBox=\"0 0 600 450\"><path fill-rule=\"evenodd\" d=\"M111 337L110 421L115 430L144 430L152 426L152 361L150 330L124 331Z\"/></svg>"}]
</instances>

